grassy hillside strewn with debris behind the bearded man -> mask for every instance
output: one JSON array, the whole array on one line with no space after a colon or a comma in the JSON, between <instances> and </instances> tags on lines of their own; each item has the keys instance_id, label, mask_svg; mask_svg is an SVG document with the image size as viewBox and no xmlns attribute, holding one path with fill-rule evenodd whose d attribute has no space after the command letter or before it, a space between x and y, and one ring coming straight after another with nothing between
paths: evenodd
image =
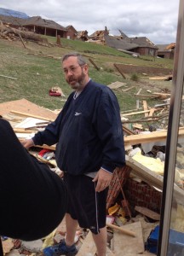
<instances>
[{"instance_id":1,"label":"grassy hillside strewn with debris behind the bearded man","mask_svg":"<svg viewBox=\"0 0 184 256\"><path fill-rule=\"evenodd\" d=\"M99 70L89 61L91 79L101 84L124 82L122 88L114 90L122 111L136 108L135 94L149 94L147 90L160 92L170 90L170 81L149 80L148 75L118 72L114 63L123 63L145 67L172 68L173 61L152 59L149 56L134 58L107 46L85 43L61 38L61 47L55 44L56 38L47 38L49 44L36 44L25 41L26 48L20 40L0 39L0 102L9 102L26 98L49 109L62 108L66 97L72 91L64 79L60 58L70 51L78 51L89 60L94 61ZM49 89L59 86L66 97L49 96ZM158 100L147 98L150 107ZM142 106L142 105L141 105Z\"/></svg>"}]
</instances>

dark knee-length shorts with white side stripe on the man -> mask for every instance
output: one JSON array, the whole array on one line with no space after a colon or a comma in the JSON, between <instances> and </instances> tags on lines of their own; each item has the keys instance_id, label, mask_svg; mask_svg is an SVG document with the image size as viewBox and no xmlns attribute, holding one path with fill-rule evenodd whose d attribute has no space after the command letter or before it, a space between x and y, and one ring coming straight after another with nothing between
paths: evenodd
<instances>
[{"instance_id":1,"label":"dark knee-length shorts with white side stripe on the man","mask_svg":"<svg viewBox=\"0 0 184 256\"><path fill-rule=\"evenodd\" d=\"M98 234L106 226L106 196L108 188L95 192L92 177L73 176L65 172L64 181L68 190L67 213L78 220L81 228Z\"/></svg>"}]
</instances>

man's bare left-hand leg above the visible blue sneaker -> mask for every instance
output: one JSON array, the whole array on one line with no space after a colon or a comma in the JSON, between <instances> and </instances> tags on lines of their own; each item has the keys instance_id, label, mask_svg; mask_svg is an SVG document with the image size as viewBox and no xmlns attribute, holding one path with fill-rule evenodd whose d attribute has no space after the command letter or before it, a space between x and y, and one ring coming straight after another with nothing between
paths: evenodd
<instances>
[{"instance_id":1,"label":"man's bare left-hand leg above the visible blue sneaker","mask_svg":"<svg viewBox=\"0 0 184 256\"><path fill-rule=\"evenodd\" d=\"M74 243L74 238L76 234L76 230L78 228L78 220L73 219L69 213L66 213L66 245L72 246Z\"/></svg>"}]
</instances>

